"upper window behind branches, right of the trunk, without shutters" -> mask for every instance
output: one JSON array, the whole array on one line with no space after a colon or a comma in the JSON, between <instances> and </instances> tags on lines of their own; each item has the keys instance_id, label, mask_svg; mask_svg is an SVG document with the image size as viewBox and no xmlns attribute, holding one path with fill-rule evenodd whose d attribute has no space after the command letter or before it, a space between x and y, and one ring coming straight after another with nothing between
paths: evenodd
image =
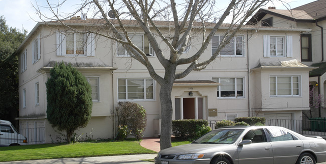
<instances>
[{"instance_id":1,"label":"upper window behind branches, right of the trunk, without shutters","mask_svg":"<svg viewBox=\"0 0 326 164\"><path fill-rule=\"evenodd\" d=\"M218 49L224 35L214 35L212 37L212 54ZM230 39L220 51L221 56L243 56L244 55L244 36L237 35Z\"/></svg>"}]
</instances>

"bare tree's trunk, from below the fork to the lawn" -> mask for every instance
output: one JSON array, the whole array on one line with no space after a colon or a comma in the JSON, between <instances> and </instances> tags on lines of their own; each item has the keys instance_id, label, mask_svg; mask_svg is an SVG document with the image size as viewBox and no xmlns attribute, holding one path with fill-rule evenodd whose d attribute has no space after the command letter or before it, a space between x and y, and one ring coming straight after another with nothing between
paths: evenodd
<instances>
[{"instance_id":1,"label":"bare tree's trunk, from below the fork to the lawn","mask_svg":"<svg viewBox=\"0 0 326 164\"><path fill-rule=\"evenodd\" d=\"M172 134L172 100L171 91L172 84L161 85L159 91L160 106L161 106L161 131L160 131L160 149L171 147Z\"/></svg>"}]
</instances>

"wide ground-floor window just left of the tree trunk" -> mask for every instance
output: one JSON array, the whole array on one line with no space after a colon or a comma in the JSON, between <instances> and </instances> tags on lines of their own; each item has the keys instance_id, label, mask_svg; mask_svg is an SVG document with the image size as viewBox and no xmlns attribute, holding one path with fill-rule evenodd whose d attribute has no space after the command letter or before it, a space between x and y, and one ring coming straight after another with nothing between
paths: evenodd
<instances>
[{"instance_id":1,"label":"wide ground-floor window just left of the tree trunk","mask_svg":"<svg viewBox=\"0 0 326 164\"><path fill-rule=\"evenodd\" d=\"M152 78L119 78L119 100L154 99L154 80Z\"/></svg>"}]
</instances>

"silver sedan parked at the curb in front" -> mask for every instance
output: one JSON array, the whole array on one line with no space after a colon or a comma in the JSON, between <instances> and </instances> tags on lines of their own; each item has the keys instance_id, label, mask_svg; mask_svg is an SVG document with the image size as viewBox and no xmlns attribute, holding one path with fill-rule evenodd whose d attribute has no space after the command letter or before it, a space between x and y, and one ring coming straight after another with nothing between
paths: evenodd
<instances>
[{"instance_id":1,"label":"silver sedan parked at the curb in front","mask_svg":"<svg viewBox=\"0 0 326 164\"><path fill-rule=\"evenodd\" d=\"M190 144L158 152L156 164L315 164L326 161L326 140L278 126L228 126Z\"/></svg>"}]
</instances>

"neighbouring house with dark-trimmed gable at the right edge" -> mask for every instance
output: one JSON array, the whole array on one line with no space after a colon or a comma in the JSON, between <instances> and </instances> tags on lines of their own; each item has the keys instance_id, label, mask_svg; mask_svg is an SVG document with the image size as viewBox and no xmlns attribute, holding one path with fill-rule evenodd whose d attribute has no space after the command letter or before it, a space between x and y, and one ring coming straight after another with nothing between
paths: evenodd
<instances>
[{"instance_id":1,"label":"neighbouring house with dark-trimmed gable at the right edge","mask_svg":"<svg viewBox=\"0 0 326 164\"><path fill-rule=\"evenodd\" d=\"M256 24L271 27L285 28L305 28L308 31L302 31L300 36L301 61L310 66L317 67L310 71L309 85L314 88L314 99L317 94L325 95L326 93L326 0L316 0L290 10L276 9L259 9L257 13L247 22L247 24ZM325 96L323 96L325 101ZM325 117L326 112L321 107L312 108L312 117ZM321 109L322 108L322 109ZM310 113L307 113L310 116Z\"/></svg>"}]
</instances>

